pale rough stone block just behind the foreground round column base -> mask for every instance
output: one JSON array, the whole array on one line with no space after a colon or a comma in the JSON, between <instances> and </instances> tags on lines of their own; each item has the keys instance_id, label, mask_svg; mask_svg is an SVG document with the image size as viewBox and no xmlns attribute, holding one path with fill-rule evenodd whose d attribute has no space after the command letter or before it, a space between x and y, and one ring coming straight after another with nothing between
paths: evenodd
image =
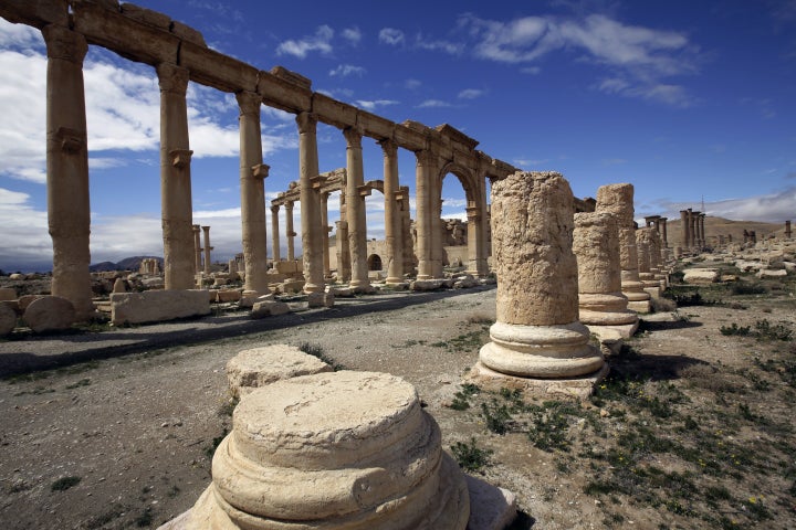
<instances>
[{"instance_id":1,"label":"pale rough stone block just behind the foreground round column base","mask_svg":"<svg viewBox=\"0 0 796 530\"><path fill-rule=\"evenodd\" d=\"M227 382L239 398L283 379L331 371L332 367L295 346L273 344L243 350L227 361Z\"/></svg>"}]
</instances>

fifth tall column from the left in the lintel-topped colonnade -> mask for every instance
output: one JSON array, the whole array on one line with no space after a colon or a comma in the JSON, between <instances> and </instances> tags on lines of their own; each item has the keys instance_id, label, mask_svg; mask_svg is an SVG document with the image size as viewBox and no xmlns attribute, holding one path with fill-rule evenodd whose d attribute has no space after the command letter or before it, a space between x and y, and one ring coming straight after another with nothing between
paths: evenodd
<instances>
[{"instance_id":1,"label":"fifth tall column from the left in the lintel-topped colonnade","mask_svg":"<svg viewBox=\"0 0 796 530\"><path fill-rule=\"evenodd\" d=\"M370 290L367 269L367 222L363 189L365 174L362 157L362 130L348 127L343 131L346 139L346 221L348 221L348 245L352 259L350 287L354 290Z\"/></svg>"}]
</instances>

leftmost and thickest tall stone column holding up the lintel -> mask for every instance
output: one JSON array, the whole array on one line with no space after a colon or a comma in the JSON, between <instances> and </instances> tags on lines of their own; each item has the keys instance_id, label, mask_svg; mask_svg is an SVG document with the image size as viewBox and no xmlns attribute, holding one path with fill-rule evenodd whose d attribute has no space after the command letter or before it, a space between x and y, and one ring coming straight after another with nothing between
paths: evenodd
<instances>
[{"instance_id":1,"label":"leftmost and thickest tall stone column holding up the lintel","mask_svg":"<svg viewBox=\"0 0 796 530\"><path fill-rule=\"evenodd\" d=\"M53 242L51 290L75 308L77 320L94 312L92 303L91 206L83 59L80 33L57 25L42 30L48 51L46 183L48 225ZM192 279L192 275L191 278Z\"/></svg>"}]
</instances>

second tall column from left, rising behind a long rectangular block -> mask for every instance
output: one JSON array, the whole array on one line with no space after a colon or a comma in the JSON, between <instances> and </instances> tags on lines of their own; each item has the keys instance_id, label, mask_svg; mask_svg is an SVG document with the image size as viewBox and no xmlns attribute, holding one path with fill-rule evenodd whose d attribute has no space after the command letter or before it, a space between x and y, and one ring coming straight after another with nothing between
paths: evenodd
<instances>
[{"instance_id":1,"label":"second tall column from left, rising behind a long rectangular block","mask_svg":"<svg viewBox=\"0 0 796 530\"><path fill-rule=\"evenodd\" d=\"M188 70L157 65L160 84L160 204L166 289L193 288L193 211L188 144ZM210 251L205 244L205 271Z\"/></svg>"}]
</instances>

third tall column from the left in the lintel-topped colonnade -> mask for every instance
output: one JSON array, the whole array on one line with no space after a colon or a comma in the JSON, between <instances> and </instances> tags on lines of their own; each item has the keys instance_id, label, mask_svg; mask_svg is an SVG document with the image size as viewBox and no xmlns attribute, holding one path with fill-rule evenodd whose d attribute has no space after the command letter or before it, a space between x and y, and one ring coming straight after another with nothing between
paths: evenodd
<instances>
[{"instance_id":1,"label":"third tall column from the left in the lintel-topped colonnade","mask_svg":"<svg viewBox=\"0 0 796 530\"><path fill-rule=\"evenodd\" d=\"M269 167L262 163L260 105L254 92L235 94L240 107L240 181L241 242L245 266L245 295L268 295L268 234L265 231L265 178Z\"/></svg>"}]
</instances>

